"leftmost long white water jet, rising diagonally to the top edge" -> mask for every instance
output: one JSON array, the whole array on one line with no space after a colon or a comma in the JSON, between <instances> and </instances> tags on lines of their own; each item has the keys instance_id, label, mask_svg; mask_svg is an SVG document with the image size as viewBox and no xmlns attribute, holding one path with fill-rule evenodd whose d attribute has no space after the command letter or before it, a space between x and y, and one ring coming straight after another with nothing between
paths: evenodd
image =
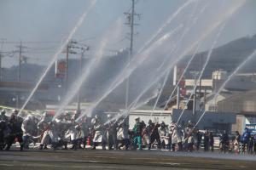
<instances>
[{"instance_id":1,"label":"leftmost long white water jet, rising diagonally to the top edge","mask_svg":"<svg viewBox=\"0 0 256 170\"><path fill-rule=\"evenodd\" d=\"M76 33L76 31L78 31L79 27L84 23L84 19L86 18L86 16L88 15L88 13L90 12L90 10L92 8L94 8L94 6L96 5L97 0L91 0L90 1L90 5L89 7L85 10L84 14L82 14L82 16L79 18L79 21L77 22L76 26L73 27L73 30L69 33L67 40L61 45L61 48L55 53L55 55L53 56L53 59L50 60L49 65L47 66L47 68L44 70L44 73L42 74L42 76L39 78L35 88L32 89L31 94L28 96L28 98L26 99L26 102L24 103L24 105L22 105L22 107L20 108L20 111L18 113L18 115L20 115L21 111L24 110L24 108L26 107L26 105L28 104L28 102L30 101L30 99L32 99L32 96L35 94L35 92L37 91L39 85L41 84L41 82L44 80L44 77L46 77L47 73L49 72L50 68L52 65L55 64L55 60L59 57L59 55L61 54L61 52L63 51L63 49L67 46L67 43L70 42L70 40L72 39L73 35Z\"/></svg>"}]
</instances>

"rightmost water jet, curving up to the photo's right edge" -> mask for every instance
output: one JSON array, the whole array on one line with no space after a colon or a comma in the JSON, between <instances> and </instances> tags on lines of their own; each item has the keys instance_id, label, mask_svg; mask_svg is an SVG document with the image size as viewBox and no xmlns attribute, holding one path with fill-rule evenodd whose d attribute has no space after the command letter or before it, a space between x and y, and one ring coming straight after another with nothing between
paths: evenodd
<instances>
[{"instance_id":1,"label":"rightmost water jet, curving up to the photo's right edge","mask_svg":"<svg viewBox=\"0 0 256 170\"><path fill-rule=\"evenodd\" d=\"M222 84L222 86L220 88L218 88L218 92L214 95L213 100L214 101L217 97L218 94L220 94L220 92L223 90L223 88L225 87L225 85L230 82L231 78L236 75L237 71L239 71L241 69L241 67L243 67L245 64L247 64L247 62L251 59L253 59L253 57L256 55L256 49L253 51L252 54L250 54L247 59L245 59L240 65L238 65L238 67L236 67L236 70L233 71L230 76L227 78L227 80ZM201 114L199 120L195 123L195 127L198 125L198 123L201 121L201 118L206 114L207 111L203 111L203 113Z\"/></svg>"}]
</instances>

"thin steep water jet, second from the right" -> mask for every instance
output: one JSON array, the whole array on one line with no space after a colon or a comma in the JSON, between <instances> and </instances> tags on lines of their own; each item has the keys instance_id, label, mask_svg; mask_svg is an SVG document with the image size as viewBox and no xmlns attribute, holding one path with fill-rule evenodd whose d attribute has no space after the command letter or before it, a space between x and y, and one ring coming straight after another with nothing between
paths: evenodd
<instances>
[{"instance_id":1,"label":"thin steep water jet, second from the right","mask_svg":"<svg viewBox=\"0 0 256 170\"><path fill-rule=\"evenodd\" d=\"M215 41L212 43L212 47L211 47L211 49L210 49L210 51L209 51L209 53L208 53L208 55L207 55L207 60L206 60L205 64L203 65L203 68L202 68L202 70L201 70L200 76L199 76L199 77L196 79L196 81L195 81L195 86L194 86L194 89L193 89L192 93L191 93L190 96L189 96L189 100L192 98L192 95L193 95L193 94L195 95L197 83L200 81L200 79L201 79L201 77L202 77L204 71L205 71L206 68L207 68L207 64L208 64L208 62L209 62L209 60L210 60L210 58L211 58L211 56L212 56L212 50L213 50L213 48L215 48L216 43L218 42L218 38L220 37L221 32L224 30L224 26L225 26L225 24L219 28L218 35L217 35ZM189 100L187 101L186 105L189 104ZM182 111L182 113L180 114L180 116L178 116L177 123L180 121L181 117L183 116L184 111L185 111L185 108L183 109L183 111Z\"/></svg>"}]
</instances>

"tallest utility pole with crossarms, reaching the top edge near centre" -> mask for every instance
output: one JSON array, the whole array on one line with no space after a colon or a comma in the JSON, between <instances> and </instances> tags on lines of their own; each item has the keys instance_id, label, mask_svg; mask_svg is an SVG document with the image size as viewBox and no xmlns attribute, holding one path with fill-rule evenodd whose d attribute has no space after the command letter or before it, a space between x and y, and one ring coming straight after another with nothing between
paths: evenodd
<instances>
[{"instance_id":1,"label":"tallest utility pole with crossarms, reaching the top edge near centre","mask_svg":"<svg viewBox=\"0 0 256 170\"><path fill-rule=\"evenodd\" d=\"M128 65L130 65L131 62L131 56L133 53L133 37L134 37L134 26L137 26L137 24L134 23L134 17L137 16L140 18L141 14L135 13L135 1L131 0L131 13L125 13L127 23L125 25L129 26L131 29L130 32L130 49L129 49L129 56L128 56ZM126 90L125 90L125 109L128 109L128 103L129 103L129 77L127 77L126 80Z\"/></svg>"}]
</instances>

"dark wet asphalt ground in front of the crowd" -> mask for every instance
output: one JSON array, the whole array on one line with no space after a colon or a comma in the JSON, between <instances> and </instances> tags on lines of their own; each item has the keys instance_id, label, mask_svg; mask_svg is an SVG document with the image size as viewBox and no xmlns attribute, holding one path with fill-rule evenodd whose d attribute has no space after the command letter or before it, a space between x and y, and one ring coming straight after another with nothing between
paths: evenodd
<instances>
[{"instance_id":1,"label":"dark wet asphalt ground in front of the crowd","mask_svg":"<svg viewBox=\"0 0 256 170\"><path fill-rule=\"evenodd\" d=\"M0 151L0 170L9 169L256 169L256 156L158 150Z\"/></svg>"}]
</instances>

